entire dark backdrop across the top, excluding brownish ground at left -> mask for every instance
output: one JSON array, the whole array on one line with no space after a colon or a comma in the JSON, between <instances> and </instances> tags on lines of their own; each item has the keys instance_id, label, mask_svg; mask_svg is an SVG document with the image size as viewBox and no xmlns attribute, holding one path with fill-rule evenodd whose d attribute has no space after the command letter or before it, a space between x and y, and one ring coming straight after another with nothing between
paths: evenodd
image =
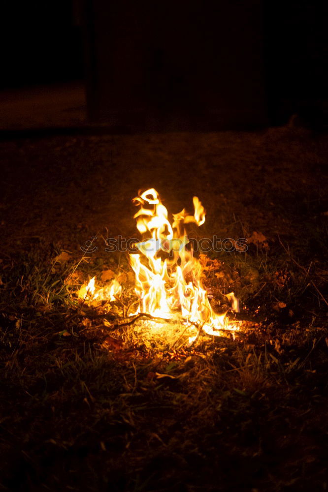
<instances>
[{"instance_id":1,"label":"entire dark backdrop across the top, excluding brownish ground at left","mask_svg":"<svg viewBox=\"0 0 328 492\"><path fill-rule=\"evenodd\" d=\"M327 116L327 2L11 2L2 92L85 80L88 116L142 128Z\"/></svg>"}]
</instances>

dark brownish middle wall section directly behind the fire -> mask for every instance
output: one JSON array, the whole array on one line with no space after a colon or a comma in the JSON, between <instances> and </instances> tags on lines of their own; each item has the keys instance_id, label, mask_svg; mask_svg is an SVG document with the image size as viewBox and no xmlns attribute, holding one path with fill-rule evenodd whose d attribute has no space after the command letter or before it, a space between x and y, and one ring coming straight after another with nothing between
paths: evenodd
<instances>
[{"instance_id":1,"label":"dark brownish middle wall section directly behind the fire","mask_svg":"<svg viewBox=\"0 0 328 492\"><path fill-rule=\"evenodd\" d=\"M86 0L91 118L167 128L266 123L261 0Z\"/></svg>"}]
</instances>

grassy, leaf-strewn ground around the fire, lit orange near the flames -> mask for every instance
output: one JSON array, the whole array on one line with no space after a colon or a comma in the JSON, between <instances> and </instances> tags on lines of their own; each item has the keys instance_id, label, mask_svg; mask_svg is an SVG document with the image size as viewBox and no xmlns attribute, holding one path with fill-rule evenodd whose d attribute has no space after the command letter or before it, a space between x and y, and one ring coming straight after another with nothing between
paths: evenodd
<instances>
[{"instance_id":1,"label":"grassy, leaf-strewn ground around the fire, lit orange near the flames","mask_svg":"<svg viewBox=\"0 0 328 492\"><path fill-rule=\"evenodd\" d=\"M2 489L327 490L327 136L28 137L0 142ZM212 303L240 298L235 338L172 346L121 324L133 277L104 239L135 235L147 187L171 212L197 195L197 237L248 239L203 260ZM78 302L107 270L121 302Z\"/></svg>"}]
</instances>

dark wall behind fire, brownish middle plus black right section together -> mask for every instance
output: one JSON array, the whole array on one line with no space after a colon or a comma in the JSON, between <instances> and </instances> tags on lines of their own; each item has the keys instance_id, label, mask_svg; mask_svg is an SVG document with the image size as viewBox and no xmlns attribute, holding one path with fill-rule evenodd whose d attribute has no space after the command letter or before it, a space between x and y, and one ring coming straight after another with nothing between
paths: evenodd
<instances>
[{"instance_id":1,"label":"dark wall behind fire, brownish middle plus black right section together","mask_svg":"<svg viewBox=\"0 0 328 492\"><path fill-rule=\"evenodd\" d=\"M328 122L325 0L85 0L89 113L141 126Z\"/></svg>"}]
</instances>

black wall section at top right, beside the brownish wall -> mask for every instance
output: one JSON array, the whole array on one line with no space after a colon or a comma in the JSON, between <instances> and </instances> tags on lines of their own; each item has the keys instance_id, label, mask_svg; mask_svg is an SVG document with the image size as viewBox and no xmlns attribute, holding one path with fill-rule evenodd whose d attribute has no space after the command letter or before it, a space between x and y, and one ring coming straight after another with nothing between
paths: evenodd
<instances>
[{"instance_id":1,"label":"black wall section at top right, beside the brownish wall","mask_svg":"<svg viewBox=\"0 0 328 492\"><path fill-rule=\"evenodd\" d=\"M299 113L328 119L327 0L265 0L265 87L270 123Z\"/></svg>"}]
</instances>

